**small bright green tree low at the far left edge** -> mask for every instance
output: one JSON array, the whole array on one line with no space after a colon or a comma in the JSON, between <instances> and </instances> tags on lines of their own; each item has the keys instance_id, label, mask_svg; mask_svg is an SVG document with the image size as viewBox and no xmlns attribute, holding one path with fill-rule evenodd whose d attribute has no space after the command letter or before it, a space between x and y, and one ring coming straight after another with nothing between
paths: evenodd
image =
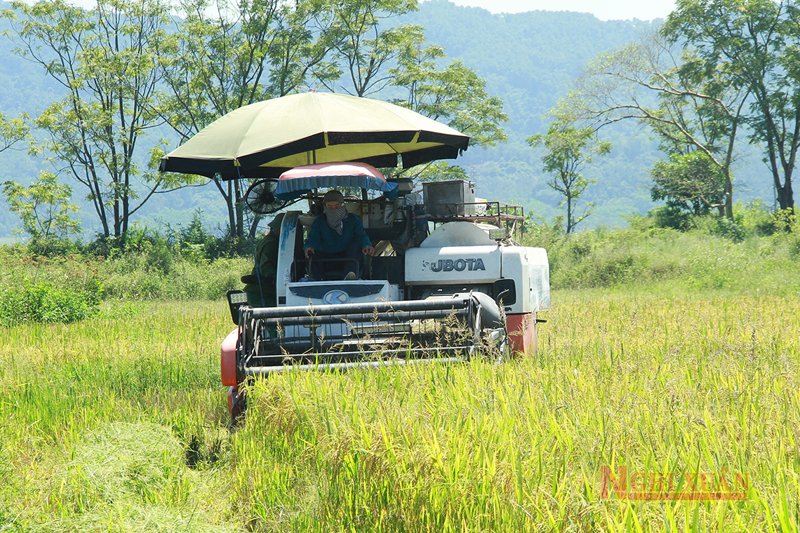
<instances>
[{"instance_id":1,"label":"small bright green tree low at the far left edge","mask_svg":"<svg viewBox=\"0 0 800 533\"><path fill-rule=\"evenodd\" d=\"M66 240L81 232L79 221L71 217L78 211L78 206L70 202L72 188L59 184L55 174L42 172L38 181L28 187L6 181L2 192L10 211L22 221L22 230L17 233L24 231L32 240L46 243Z\"/></svg>"}]
</instances>

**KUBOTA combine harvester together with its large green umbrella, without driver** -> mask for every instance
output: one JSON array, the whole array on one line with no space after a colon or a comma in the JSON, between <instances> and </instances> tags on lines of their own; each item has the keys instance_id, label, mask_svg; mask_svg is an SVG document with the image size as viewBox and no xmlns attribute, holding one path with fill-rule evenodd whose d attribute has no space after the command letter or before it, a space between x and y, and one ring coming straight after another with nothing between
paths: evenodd
<instances>
[{"instance_id":1,"label":"KUBOTA combine harvester together with its large green umbrella, without driver","mask_svg":"<svg viewBox=\"0 0 800 533\"><path fill-rule=\"evenodd\" d=\"M237 200L243 178L258 180L245 195L258 214L308 201L306 213L290 210L282 221L271 281L277 307L228 295L238 325L222 343L231 416L242 411L239 386L252 376L535 352L549 267L544 249L522 246L522 208L476 201L465 181L426 183L421 195L409 179L386 181L369 166L455 159L469 143L398 105L309 92L235 109L162 157L162 172L230 181ZM328 187L355 193L346 209L361 217L376 249L360 280L342 272L309 280L303 233Z\"/></svg>"}]
</instances>

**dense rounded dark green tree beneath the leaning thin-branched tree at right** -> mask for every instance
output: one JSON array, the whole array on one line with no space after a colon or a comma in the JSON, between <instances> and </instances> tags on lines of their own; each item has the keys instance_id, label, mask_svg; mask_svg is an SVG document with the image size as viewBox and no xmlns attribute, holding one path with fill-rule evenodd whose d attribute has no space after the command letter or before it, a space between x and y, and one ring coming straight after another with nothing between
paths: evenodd
<instances>
[{"instance_id":1,"label":"dense rounded dark green tree beneath the leaning thin-branched tree at right","mask_svg":"<svg viewBox=\"0 0 800 533\"><path fill-rule=\"evenodd\" d=\"M726 177L717 165L702 153L673 154L667 161L656 161L650 171L653 200L666 200L667 207L698 217L710 209L725 215Z\"/></svg>"}]
</instances>

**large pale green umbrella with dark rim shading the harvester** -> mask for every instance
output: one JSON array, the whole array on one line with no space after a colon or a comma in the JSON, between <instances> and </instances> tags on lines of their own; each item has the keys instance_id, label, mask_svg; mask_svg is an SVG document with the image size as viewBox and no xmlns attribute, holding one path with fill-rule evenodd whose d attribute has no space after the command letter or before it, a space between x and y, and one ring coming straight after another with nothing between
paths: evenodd
<instances>
[{"instance_id":1,"label":"large pale green umbrella with dark rim shading the harvester","mask_svg":"<svg viewBox=\"0 0 800 533\"><path fill-rule=\"evenodd\" d=\"M405 168L454 159L470 137L410 109L334 93L300 93L240 107L161 160L162 172L278 177L301 165L361 161Z\"/></svg>"}]
</instances>

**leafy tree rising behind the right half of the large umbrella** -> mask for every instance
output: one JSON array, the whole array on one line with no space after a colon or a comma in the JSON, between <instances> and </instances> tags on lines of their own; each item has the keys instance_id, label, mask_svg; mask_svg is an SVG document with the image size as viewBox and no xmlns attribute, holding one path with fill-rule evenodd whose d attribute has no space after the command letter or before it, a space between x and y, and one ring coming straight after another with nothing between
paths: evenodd
<instances>
[{"instance_id":1,"label":"leafy tree rising behind the right half of the large umbrella","mask_svg":"<svg viewBox=\"0 0 800 533\"><path fill-rule=\"evenodd\" d=\"M366 96L399 91L402 97L391 97L392 103L446 122L470 135L471 145L486 148L507 141L502 123L508 122L508 116L502 100L486 91L486 81L474 70L459 61L442 69L444 49L426 43L422 26L379 29L387 18L415 10L415 1L358 0L338 5L342 38L337 50L344 66L341 74L350 78L347 84L353 87L347 92ZM411 173L422 181L468 178L464 169L444 161L413 170L384 169L384 173L394 177Z\"/></svg>"}]
</instances>

